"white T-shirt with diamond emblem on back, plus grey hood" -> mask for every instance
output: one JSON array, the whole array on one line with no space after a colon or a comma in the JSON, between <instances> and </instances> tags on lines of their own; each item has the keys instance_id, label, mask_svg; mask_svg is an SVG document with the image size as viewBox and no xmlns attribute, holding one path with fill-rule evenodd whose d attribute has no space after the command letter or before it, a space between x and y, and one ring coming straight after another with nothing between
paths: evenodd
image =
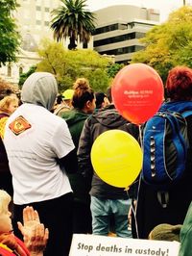
<instances>
[{"instance_id":1,"label":"white T-shirt with diamond emblem on back, plus grey hood","mask_svg":"<svg viewBox=\"0 0 192 256\"><path fill-rule=\"evenodd\" d=\"M15 204L41 202L71 192L64 166L58 160L74 149L74 143L66 122L49 111L57 92L52 74L32 74L23 86L24 104L6 124L4 142Z\"/></svg>"}]
</instances>

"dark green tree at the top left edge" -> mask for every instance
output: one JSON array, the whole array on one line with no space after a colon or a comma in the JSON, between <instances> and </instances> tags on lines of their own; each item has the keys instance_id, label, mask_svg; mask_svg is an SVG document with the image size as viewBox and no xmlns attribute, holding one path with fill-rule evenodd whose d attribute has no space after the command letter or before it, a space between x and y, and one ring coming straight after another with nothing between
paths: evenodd
<instances>
[{"instance_id":1,"label":"dark green tree at the top left edge","mask_svg":"<svg viewBox=\"0 0 192 256\"><path fill-rule=\"evenodd\" d=\"M16 61L20 37L12 11L17 6L16 0L0 0L0 64Z\"/></svg>"}]
</instances>

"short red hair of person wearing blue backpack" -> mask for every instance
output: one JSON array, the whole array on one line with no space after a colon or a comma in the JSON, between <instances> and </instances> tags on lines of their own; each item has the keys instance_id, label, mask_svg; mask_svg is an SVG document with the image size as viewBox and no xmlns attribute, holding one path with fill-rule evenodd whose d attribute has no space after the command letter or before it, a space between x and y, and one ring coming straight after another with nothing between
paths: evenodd
<instances>
[{"instance_id":1,"label":"short red hair of person wearing blue backpack","mask_svg":"<svg viewBox=\"0 0 192 256\"><path fill-rule=\"evenodd\" d=\"M169 71L166 88L171 100L192 100L192 69L176 66Z\"/></svg>"}]
</instances>

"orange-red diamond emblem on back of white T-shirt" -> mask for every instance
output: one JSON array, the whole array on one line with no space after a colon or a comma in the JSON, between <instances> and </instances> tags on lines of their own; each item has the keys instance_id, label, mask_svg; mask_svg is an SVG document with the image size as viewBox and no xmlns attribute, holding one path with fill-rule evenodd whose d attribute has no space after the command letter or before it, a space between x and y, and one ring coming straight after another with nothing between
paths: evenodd
<instances>
[{"instance_id":1,"label":"orange-red diamond emblem on back of white T-shirt","mask_svg":"<svg viewBox=\"0 0 192 256\"><path fill-rule=\"evenodd\" d=\"M32 125L22 115L16 117L9 125L9 128L15 135L19 135L31 127Z\"/></svg>"}]
</instances>

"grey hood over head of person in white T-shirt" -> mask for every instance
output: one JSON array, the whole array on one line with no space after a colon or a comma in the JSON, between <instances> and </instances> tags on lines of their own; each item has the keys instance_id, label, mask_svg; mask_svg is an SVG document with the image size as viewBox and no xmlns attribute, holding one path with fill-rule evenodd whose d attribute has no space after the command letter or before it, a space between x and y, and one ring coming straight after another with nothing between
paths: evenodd
<instances>
[{"instance_id":1,"label":"grey hood over head of person in white T-shirt","mask_svg":"<svg viewBox=\"0 0 192 256\"><path fill-rule=\"evenodd\" d=\"M58 94L57 81L51 73L35 72L30 75L21 90L23 103L32 103L51 110Z\"/></svg>"}]
</instances>

